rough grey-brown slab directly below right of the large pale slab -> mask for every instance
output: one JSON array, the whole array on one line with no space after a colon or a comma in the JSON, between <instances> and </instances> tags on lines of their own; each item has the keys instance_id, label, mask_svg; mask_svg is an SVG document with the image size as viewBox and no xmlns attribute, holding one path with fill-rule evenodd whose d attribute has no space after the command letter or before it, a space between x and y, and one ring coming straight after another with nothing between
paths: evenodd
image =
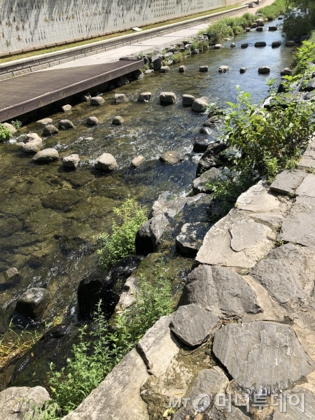
<instances>
[{"instance_id":1,"label":"rough grey-brown slab directly below right of the large pale slab","mask_svg":"<svg viewBox=\"0 0 315 420\"><path fill-rule=\"evenodd\" d=\"M304 253L293 244L285 244L269 252L267 258L258 262L251 275L269 295L283 304L291 299L304 299L304 286L309 283L305 273Z\"/></svg>"}]
</instances>

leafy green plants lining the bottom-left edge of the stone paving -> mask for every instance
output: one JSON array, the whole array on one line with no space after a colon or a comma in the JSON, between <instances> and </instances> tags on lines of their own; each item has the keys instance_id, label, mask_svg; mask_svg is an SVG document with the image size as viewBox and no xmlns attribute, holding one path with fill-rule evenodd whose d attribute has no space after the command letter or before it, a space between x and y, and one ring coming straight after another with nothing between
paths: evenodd
<instances>
[{"instance_id":1,"label":"leafy green plants lining the bottom-left edge of the stone paving","mask_svg":"<svg viewBox=\"0 0 315 420\"><path fill-rule=\"evenodd\" d=\"M162 261L153 267L151 277L141 276L136 302L123 314L117 314L114 328L102 314L101 302L95 312L94 328L80 328L78 344L73 345L73 356L60 372L50 365L50 389L54 416L43 420L57 420L77 407L80 402L106 377L125 354L143 337L148 328L161 316L172 312L171 283L165 275ZM59 407L59 412L56 407Z\"/></svg>"}]
</instances>

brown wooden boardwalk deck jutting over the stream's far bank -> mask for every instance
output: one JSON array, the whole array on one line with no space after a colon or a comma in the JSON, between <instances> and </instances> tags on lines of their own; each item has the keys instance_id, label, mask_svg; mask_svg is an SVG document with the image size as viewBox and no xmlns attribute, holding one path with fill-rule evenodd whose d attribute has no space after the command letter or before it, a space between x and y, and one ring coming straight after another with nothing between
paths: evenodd
<instances>
[{"instance_id":1,"label":"brown wooden boardwalk deck jutting over the stream's far bank","mask_svg":"<svg viewBox=\"0 0 315 420\"><path fill-rule=\"evenodd\" d=\"M36 71L0 81L0 122L141 69L144 60Z\"/></svg>"}]
</instances>

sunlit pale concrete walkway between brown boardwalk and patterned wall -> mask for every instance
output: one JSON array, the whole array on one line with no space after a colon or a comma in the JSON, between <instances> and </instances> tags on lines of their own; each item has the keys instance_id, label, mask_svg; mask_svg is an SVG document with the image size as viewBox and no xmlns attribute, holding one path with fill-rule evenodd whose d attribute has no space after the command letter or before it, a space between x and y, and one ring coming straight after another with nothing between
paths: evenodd
<instances>
[{"instance_id":1,"label":"sunlit pale concrete walkway between brown boardwalk and patterned wall","mask_svg":"<svg viewBox=\"0 0 315 420\"><path fill-rule=\"evenodd\" d=\"M248 3L247 1L243 4ZM269 6L269 4L274 3L274 0L265 0L260 7ZM241 10L236 12L234 17L242 16L244 13L251 13L254 15L257 12L258 8L248 8L245 10ZM181 31L174 31L171 34L158 36L156 38L148 39L147 41L142 41L138 43L132 43L131 45L125 45L124 47L117 48L115 50L109 50L105 52L100 52L99 54L90 55L89 57L84 57L81 59L76 59L71 62L66 62L64 64L59 64L54 66L53 68L45 69L43 71L50 71L52 69L67 69L70 67L77 67L77 66L92 66L94 64L103 64L103 63L110 63L115 62L120 57L125 57L127 55L137 54L141 51L145 50L155 50L160 49L163 45L170 45L172 43L176 43L183 38L188 38L188 36L197 35L198 31L201 29L205 29L209 26L207 23L203 23L202 25L196 25L195 27L190 27L188 29L182 29Z\"/></svg>"}]
</instances>

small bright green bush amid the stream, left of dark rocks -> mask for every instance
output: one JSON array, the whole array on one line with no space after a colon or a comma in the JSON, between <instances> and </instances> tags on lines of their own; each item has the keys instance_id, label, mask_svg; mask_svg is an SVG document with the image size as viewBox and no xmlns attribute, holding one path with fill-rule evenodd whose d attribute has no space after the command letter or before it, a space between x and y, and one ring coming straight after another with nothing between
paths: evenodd
<instances>
[{"instance_id":1,"label":"small bright green bush amid the stream, left of dark rocks","mask_svg":"<svg viewBox=\"0 0 315 420\"><path fill-rule=\"evenodd\" d=\"M146 209L130 197L113 211L119 223L113 221L111 235L102 233L97 241L99 265L103 269L109 269L115 262L135 253L136 233L146 221Z\"/></svg>"}]
</instances>

